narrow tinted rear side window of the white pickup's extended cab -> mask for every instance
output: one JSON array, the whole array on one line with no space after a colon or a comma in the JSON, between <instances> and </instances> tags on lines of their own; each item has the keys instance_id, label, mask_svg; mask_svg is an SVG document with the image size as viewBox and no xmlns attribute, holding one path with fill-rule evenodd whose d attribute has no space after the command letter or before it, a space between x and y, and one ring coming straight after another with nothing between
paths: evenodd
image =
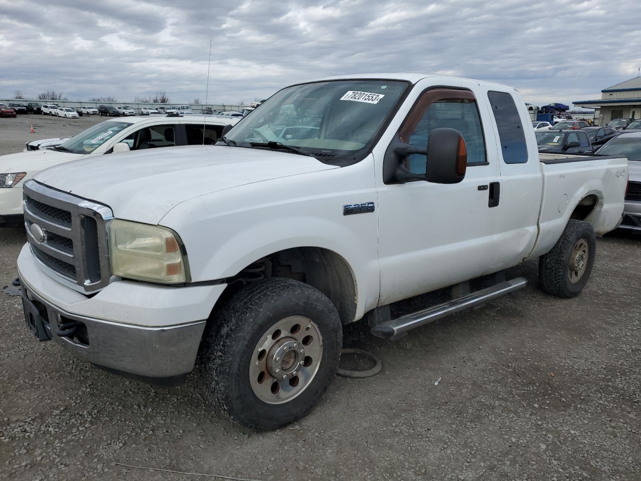
<instances>
[{"instance_id":1,"label":"narrow tinted rear side window of the white pickup's extended cab","mask_svg":"<svg viewBox=\"0 0 641 481\"><path fill-rule=\"evenodd\" d=\"M488 92L487 97L492 105L492 114L499 130L503 161L506 164L526 164L528 146L514 99L507 92L494 91Z\"/></svg>"}]
</instances>

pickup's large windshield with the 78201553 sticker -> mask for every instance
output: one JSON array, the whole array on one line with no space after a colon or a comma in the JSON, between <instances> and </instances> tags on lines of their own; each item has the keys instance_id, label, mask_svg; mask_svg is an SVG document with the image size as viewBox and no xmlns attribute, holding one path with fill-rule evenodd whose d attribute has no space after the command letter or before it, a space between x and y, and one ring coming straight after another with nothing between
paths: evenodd
<instances>
[{"instance_id":1,"label":"pickup's large windshield with the 78201553 sticker","mask_svg":"<svg viewBox=\"0 0 641 481\"><path fill-rule=\"evenodd\" d=\"M388 80L294 85L238 122L226 139L242 147L279 142L324 158L353 155L374 139L407 86Z\"/></svg>"}]
</instances>

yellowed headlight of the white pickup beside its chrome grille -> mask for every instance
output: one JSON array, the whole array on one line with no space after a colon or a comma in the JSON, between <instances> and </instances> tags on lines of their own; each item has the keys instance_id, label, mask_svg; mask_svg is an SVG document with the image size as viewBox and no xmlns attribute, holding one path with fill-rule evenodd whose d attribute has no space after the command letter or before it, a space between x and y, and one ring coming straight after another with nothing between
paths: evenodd
<instances>
[{"instance_id":1,"label":"yellowed headlight of the white pickup beside its chrome grille","mask_svg":"<svg viewBox=\"0 0 641 481\"><path fill-rule=\"evenodd\" d=\"M117 276L168 284L189 281L179 237L166 227L114 219L109 251Z\"/></svg>"}]
</instances>

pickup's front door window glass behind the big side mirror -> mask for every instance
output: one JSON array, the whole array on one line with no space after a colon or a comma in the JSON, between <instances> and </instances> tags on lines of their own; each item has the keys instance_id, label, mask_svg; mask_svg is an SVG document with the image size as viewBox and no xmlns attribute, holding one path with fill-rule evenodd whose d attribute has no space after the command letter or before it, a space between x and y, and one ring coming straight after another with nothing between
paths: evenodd
<instances>
[{"instance_id":1,"label":"pickup's front door window glass behind the big side mirror","mask_svg":"<svg viewBox=\"0 0 641 481\"><path fill-rule=\"evenodd\" d=\"M434 92L436 90L428 90L426 94L433 96ZM465 140L467 165L486 165L485 139L483 138L483 128L481 128L481 118L476 100L472 92L467 90L460 92L465 98L451 98L459 94L454 90L449 92L450 98L433 99L428 102L427 106L421 106L422 98L419 99L419 103L415 107L418 113L415 110L406 121L407 124L413 125L408 129L401 130L401 140L412 147L424 149L428 145L429 133L432 130L441 127L453 128L460 131ZM417 118L417 115L420 117ZM405 167L412 173L424 174L425 162L424 155L410 155L406 159Z\"/></svg>"}]
</instances>

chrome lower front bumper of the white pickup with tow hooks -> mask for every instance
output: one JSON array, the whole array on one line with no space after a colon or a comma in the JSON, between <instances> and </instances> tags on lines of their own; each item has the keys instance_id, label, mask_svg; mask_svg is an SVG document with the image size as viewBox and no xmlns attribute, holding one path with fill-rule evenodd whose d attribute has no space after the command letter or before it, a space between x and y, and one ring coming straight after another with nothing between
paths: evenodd
<instances>
[{"instance_id":1,"label":"chrome lower front bumper of the white pickup with tow hooks","mask_svg":"<svg viewBox=\"0 0 641 481\"><path fill-rule=\"evenodd\" d=\"M25 321L40 341L51 339L98 367L160 385L180 384L194 368L205 321L146 327L78 316L40 298L24 282L22 299Z\"/></svg>"}]
</instances>

